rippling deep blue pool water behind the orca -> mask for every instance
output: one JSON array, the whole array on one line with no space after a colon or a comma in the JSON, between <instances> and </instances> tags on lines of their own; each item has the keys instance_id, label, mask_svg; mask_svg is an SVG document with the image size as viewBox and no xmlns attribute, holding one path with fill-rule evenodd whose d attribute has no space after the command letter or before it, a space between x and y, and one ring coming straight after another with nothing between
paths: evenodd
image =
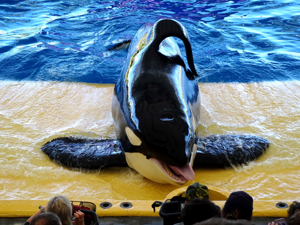
<instances>
[{"instance_id":1,"label":"rippling deep blue pool water behind the orca","mask_svg":"<svg viewBox=\"0 0 300 225\"><path fill-rule=\"evenodd\" d=\"M114 84L127 52L107 49L161 18L189 32L199 82L300 79L298 1L0 0L0 80Z\"/></svg>"}]
</instances>

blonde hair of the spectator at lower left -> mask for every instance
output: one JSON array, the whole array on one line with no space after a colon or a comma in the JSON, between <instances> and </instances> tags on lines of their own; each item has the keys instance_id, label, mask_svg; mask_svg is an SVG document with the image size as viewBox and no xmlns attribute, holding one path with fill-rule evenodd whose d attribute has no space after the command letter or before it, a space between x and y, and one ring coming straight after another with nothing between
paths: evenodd
<instances>
[{"instance_id":1,"label":"blonde hair of the spectator at lower left","mask_svg":"<svg viewBox=\"0 0 300 225\"><path fill-rule=\"evenodd\" d=\"M46 211L53 212L58 215L62 225L72 225L72 206L71 202L66 196L59 195L52 197L48 202Z\"/></svg>"}]
</instances>

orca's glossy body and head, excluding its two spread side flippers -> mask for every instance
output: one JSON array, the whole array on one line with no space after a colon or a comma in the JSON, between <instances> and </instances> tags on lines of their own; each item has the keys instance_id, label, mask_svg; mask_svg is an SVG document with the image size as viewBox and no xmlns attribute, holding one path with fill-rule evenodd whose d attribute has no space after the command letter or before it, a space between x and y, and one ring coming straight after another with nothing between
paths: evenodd
<instances>
[{"instance_id":1,"label":"orca's glossy body and head, excluding its two spread side flippers","mask_svg":"<svg viewBox=\"0 0 300 225\"><path fill-rule=\"evenodd\" d=\"M187 64L179 46L184 43ZM193 180L200 97L190 39L173 19L146 24L131 41L114 89L116 137L129 167L160 183Z\"/></svg>"}]
</instances>

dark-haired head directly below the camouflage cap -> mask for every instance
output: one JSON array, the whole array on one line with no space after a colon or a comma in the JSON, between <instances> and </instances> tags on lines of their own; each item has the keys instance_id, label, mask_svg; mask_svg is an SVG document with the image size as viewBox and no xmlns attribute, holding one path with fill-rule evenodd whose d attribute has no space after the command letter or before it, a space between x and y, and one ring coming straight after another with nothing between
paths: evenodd
<instances>
[{"instance_id":1,"label":"dark-haired head directly below the camouflage cap","mask_svg":"<svg viewBox=\"0 0 300 225\"><path fill-rule=\"evenodd\" d=\"M207 198L194 198L189 200L181 212L184 225L192 225L211 217L220 217L220 207Z\"/></svg>"}]
</instances>

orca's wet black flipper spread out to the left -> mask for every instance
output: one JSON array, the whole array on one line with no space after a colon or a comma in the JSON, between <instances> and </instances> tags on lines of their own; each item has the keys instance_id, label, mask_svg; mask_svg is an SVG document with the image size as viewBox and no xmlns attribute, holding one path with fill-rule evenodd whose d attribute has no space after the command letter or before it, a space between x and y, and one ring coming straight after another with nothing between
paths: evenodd
<instances>
[{"instance_id":1,"label":"orca's wet black flipper spread out to the left","mask_svg":"<svg viewBox=\"0 0 300 225\"><path fill-rule=\"evenodd\" d=\"M70 168L100 169L127 166L125 155L117 141L90 140L74 136L59 137L42 146L49 158Z\"/></svg>"}]
</instances>

